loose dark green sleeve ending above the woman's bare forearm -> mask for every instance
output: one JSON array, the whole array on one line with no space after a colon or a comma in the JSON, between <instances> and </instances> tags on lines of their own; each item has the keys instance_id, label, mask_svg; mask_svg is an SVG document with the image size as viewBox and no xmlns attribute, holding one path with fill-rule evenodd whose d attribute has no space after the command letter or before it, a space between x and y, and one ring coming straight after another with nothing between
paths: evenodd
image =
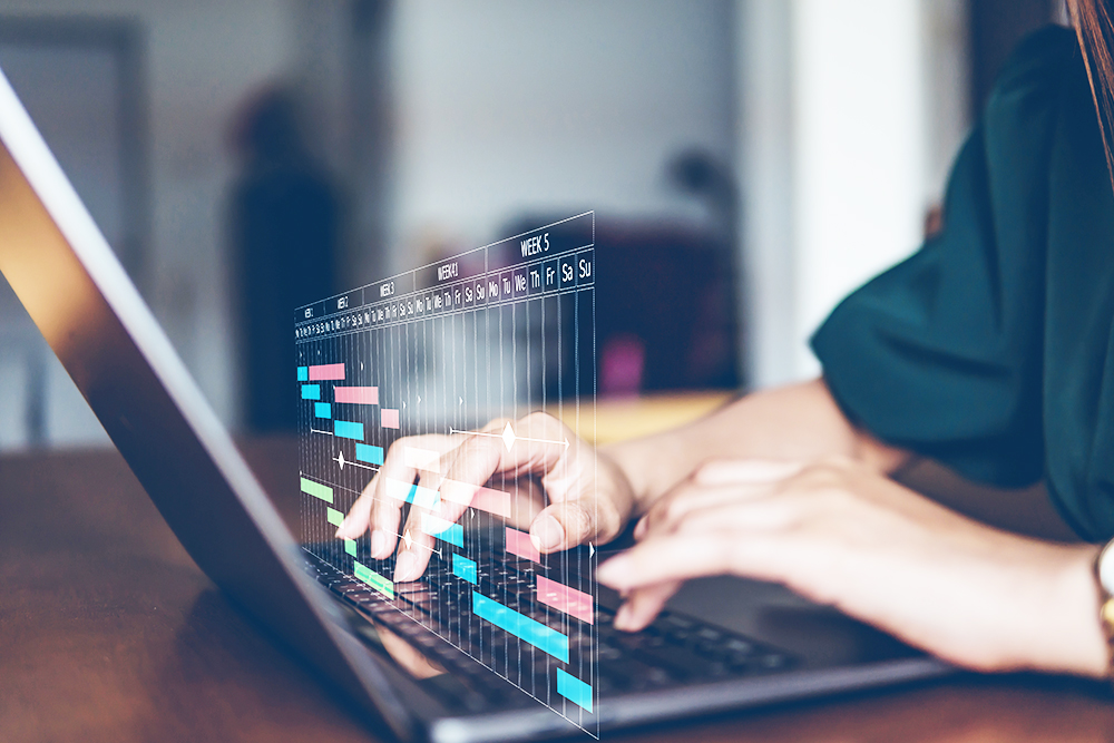
<instances>
[{"instance_id":1,"label":"loose dark green sleeve ending above the woman's bare forearm","mask_svg":"<svg viewBox=\"0 0 1114 743\"><path fill-rule=\"evenodd\" d=\"M1066 29L1023 42L954 165L942 232L848 296L812 339L849 419L1000 487L1044 471L1048 162L1076 50Z\"/></svg>"}]
</instances>

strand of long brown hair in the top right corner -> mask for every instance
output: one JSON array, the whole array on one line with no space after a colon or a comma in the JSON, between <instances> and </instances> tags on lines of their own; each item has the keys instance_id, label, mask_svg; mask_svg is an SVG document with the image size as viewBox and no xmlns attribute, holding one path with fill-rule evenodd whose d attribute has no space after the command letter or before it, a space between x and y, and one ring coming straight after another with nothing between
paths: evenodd
<instances>
[{"instance_id":1,"label":"strand of long brown hair in the top right corner","mask_svg":"<svg viewBox=\"0 0 1114 743\"><path fill-rule=\"evenodd\" d=\"M1091 97L1103 134L1106 169L1114 188L1114 0L1067 0L1068 13L1083 50Z\"/></svg>"}]
</instances>

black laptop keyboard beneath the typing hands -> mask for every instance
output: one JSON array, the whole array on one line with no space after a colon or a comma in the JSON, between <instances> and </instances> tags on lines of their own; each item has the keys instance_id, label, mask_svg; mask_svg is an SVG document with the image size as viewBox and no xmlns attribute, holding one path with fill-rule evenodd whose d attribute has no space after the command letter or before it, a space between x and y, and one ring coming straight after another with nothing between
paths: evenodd
<instances>
[{"instance_id":1,"label":"black laptop keyboard beneath the typing hands","mask_svg":"<svg viewBox=\"0 0 1114 743\"><path fill-rule=\"evenodd\" d=\"M382 623L450 674L466 678L467 686L488 702L528 701L515 691L516 682L527 693L548 688L549 664L544 654L524 653L517 639L465 610L459 586L436 560L422 580L394 584L394 599L320 559L309 557L306 566L342 602ZM553 610L536 600L534 581L519 567L481 563L478 588L546 623ZM691 616L666 610L638 633L616 629L614 618L614 612L597 605L595 632L571 638L574 653L595 651L600 696L779 673L795 664L785 652ZM469 648L470 655L458 648ZM479 703L475 700L470 706Z\"/></svg>"}]
</instances>

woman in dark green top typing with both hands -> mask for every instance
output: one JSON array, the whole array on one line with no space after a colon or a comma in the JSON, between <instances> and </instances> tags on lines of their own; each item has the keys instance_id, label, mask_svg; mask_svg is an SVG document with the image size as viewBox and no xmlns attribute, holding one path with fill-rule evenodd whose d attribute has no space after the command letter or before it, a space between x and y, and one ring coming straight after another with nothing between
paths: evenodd
<instances>
[{"instance_id":1,"label":"woman in dark green top typing with both hands","mask_svg":"<svg viewBox=\"0 0 1114 743\"><path fill-rule=\"evenodd\" d=\"M1077 0L1077 33L1049 28L1015 52L956 162L942 232L813 338L823 379L598 457L578 441L421 446L448 452L451 479L541 476L550 505L530 536L543 551L638 518L637 545L598 570L626 596L620 628L645 626L687 578L734 573L970 668L1107 675L1098 547L993 529L889 476L922 456L998 486L1043 477L1083 539L1114 535L1110 1ZM516 432L574 440L544 414ZM418 477L397 450L381 475ZM370 527L380 558L400 518L381 488L339 530ZM422 573L428 539L400 547L397 579Z\"/></svg>"}]
</instances>

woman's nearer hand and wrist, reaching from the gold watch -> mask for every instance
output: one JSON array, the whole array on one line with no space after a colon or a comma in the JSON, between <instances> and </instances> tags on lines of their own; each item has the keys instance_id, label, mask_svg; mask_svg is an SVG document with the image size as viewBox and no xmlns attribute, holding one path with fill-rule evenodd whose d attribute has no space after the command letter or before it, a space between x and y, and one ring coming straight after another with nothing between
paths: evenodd
<instances>
[{"instance_id":1,"label":"woman's nearer hand and wrist, reaching from the gold watch","mask_svg":"<svg viewBox=\"0 0 1114 743\"><path fill-rule=\"evenodd\" d=\"M648 624L681 581L781 583L958 665L1101 675L1095 549L983 526L862 465L710 463L661 498L639 544L599 567Z\"/></svg>"}]
</instances>

